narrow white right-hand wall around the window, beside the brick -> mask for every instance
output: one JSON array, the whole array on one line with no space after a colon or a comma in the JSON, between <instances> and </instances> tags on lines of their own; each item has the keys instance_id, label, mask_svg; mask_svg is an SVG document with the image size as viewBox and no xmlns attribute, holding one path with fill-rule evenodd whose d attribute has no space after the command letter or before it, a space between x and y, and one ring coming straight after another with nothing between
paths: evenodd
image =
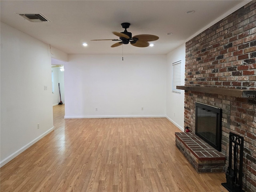
<instances>
[{"instance_id":1,"label":"narrow white right-hand wall around the window, beside the brick","mask_svg":"<svg viewBox=\"0 0 256 192\"><path fill-rule=\"evenodd\" d=\"M184 90L172 92L172 63L181 60L181 85L185 83L185 44L167 55L166 117L180 130L184 130Z\"/></svg>"}]
</instances>

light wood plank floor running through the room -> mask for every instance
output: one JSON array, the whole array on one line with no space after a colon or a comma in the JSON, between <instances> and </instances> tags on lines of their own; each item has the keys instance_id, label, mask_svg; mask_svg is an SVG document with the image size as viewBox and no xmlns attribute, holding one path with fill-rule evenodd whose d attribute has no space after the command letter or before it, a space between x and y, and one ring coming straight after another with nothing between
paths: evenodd
<instances>
[{"instance_id":1,"label":"light wood plank floor running through the room","mask_svg":"<svg viewBox=\"0 0 256 192\"><path fill-rule=\"evenodd\" d=\"M66 119L1 168L1 192L227 192L225 174L197 174L166 118Z\"/></svg>"}]
</instances>

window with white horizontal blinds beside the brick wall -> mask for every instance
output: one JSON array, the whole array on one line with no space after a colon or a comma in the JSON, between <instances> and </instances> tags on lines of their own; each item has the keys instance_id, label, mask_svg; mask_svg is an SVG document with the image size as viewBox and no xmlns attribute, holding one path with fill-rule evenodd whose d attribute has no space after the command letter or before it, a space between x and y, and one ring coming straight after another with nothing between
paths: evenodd
<instances>
[{"instance_id":1,"label":"window with white horizontal blinds beside the brick wall","mask_svg":"<svg viewBox=\"0 0 256 192\"><path fill-rule=\"evenodd\" d=\"M181 60L172 64L172 92L181 93L180 89L176 86L181 85Z\"/></svg>"}]
</instances>

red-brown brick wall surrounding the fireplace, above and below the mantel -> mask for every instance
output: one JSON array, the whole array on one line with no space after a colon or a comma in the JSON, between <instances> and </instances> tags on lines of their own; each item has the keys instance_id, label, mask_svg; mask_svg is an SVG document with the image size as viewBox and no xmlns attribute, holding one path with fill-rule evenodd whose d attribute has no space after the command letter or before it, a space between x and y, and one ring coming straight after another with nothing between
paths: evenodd
<instances>
[{"instance_id":1,"label":"red-brown brick wall surrounding the fireplace, above and below the mantel","mask_svg":"<svg viewBox=\"0 0 256 192\"><path fill-rule=\"evenodd\" d=\"M256 90L256 1L186 42L185 85ZM256 191L256 95L185 92L184 126L195 130L195 103L222 108L222 152L229 132L244 137L244 189Z\"/></svg>"}]
</instances>

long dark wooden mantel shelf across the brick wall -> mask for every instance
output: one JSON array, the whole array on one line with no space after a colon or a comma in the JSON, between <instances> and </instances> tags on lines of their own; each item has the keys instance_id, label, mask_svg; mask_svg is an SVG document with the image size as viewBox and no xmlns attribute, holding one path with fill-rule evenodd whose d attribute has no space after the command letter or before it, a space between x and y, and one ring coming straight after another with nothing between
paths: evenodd
<instances>
[{"instance_id":1,"label":"long dark wooden mantel shelf across the brick wall","mask_svg":"<svg viewBox=\"0 0 256 192\"><path fill-rule=\"evenodd\" d=\"M228 88L218 88L218 87L186 86L186 85L176 86L176 88L181 90L187 90L187 91L256 99L256 90L228 89Z\"/></svg>"}]
</instances>

